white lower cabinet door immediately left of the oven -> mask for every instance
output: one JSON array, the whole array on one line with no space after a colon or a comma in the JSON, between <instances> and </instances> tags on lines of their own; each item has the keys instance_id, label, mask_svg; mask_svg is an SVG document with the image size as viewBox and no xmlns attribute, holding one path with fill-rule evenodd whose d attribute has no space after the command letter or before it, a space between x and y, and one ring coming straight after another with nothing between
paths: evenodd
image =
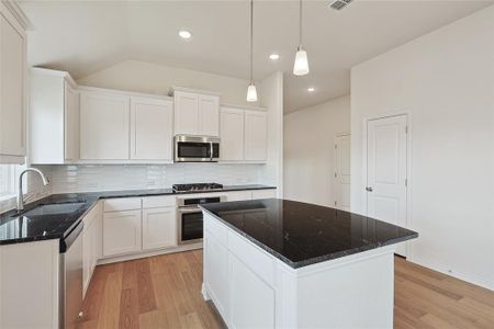
<instances>
[{"instance_id":1,"label":"white lower cabinet door immediately left of the oven","mask_svg":"<svg viewBox=\"0 0 494 329\"><path fill-rule=\"evenodd\" d=\"M143 211L143 249L177 246L175 207Z\"/></svg>"}]
</instances>

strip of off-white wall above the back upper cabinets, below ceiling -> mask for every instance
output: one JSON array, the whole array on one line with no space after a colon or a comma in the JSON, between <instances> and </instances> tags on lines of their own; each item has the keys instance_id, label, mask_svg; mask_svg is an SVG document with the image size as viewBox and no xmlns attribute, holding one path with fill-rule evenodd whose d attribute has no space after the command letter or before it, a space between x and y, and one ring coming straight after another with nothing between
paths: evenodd
<instances>
[{"instance_id":1,"label":"strip of off-white wall above the back upper cabinets, below ceiling","mask_svg":"<svg viewBox=\"0 0 494 329\"><path fill-rule=\"evenodd\" d=\"M82 86L168 94L171 87L221 92L221 102L247 104L248 80L168 67L139 60L125 60L77 80ZM252 103L248 103L252 105Z\"/></svg>"}]
</instances>

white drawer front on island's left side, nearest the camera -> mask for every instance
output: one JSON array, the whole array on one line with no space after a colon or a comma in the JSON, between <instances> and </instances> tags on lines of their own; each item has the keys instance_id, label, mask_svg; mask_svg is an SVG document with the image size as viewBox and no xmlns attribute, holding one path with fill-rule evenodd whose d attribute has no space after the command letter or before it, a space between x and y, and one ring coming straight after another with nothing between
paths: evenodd
<instances>
[{"instance_id":1,"label":"white drawer front on island's left side, nearest the camera","mask_svg":"<svg viewBox=\"0 0 494 329\"><path fill-rule=\"evenodd\" d=\"M228 249L266 283L274 286L274 261L266 254L266 251L232 230L228 230Z\"/></svg>"}]
</instances>

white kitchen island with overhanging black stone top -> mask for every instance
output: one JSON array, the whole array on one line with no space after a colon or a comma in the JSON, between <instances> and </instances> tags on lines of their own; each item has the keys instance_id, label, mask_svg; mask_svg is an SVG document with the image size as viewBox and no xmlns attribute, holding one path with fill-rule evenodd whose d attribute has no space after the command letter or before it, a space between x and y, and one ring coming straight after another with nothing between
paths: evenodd
<instances>
[{"instance_id":1,"label":"white kitchen island with overhanging black stone top","mask_svg":"<svg viewBox=\"0 0 494 329\"><path fill-rule=\"evenodd\" d=\"M203 295L229 328L392 328L394 245L415 231L313 204L207 204Z\"/></svg>"}]
</instances>

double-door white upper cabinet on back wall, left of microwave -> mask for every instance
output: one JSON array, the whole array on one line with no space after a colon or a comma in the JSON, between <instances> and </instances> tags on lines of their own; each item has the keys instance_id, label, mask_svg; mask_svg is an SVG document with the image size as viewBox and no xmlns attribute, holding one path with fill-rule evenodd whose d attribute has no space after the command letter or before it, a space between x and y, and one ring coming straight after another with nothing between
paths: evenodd
<instances>
[{"instance_id":1,"label":"double-door white upper cabinet on back wall, left of microwave","mask_svg":"<svg viewBox=\"0 0 494 329\"><path fill-rule=\"evenodd\" d=\"M173 102L168 97L81 88L83 162L171 162Z\"/></svg>"}]
</instances>

